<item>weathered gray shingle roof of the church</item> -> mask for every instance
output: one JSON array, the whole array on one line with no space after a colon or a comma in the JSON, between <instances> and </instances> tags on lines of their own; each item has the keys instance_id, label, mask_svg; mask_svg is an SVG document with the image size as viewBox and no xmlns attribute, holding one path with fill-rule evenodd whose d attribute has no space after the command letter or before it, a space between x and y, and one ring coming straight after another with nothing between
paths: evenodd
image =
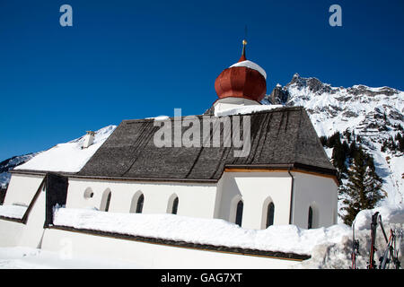
<instances>
[{"instance_id":1,"label":"weathered gray shingle roof of the church","mask_svg":"<svg viewBox=\"0 0 404 287\"><path fill-rule=\"evenodd\" d=\"M154 134L160 127L154 126L154 119L124 120L78 176L216 181L225 167L298 167L336 174L302 107L271 109L243 116L250 116L251 126L251 147L247 157L234 157L233 151L240 148L224 147L224 144L220 147L158 148L154 145ZM182 127L182 132L187 129L188 126Z\"/></svg>"}]
</instances>

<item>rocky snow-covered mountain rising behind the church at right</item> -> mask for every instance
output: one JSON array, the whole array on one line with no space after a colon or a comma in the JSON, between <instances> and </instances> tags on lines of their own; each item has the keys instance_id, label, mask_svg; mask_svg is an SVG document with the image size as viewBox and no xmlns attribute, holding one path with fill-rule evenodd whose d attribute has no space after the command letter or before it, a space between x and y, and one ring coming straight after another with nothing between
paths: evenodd
<instances>
[{"instance_id":1,"label":"rocky snow-covered mountain rising behind the church at right","mask_svg":"<svg viewBox=\"0 0 404 287\"><path fill-rule=\"evenodd\" d=\"M347 130L359 135L359 144L372 154L376 172L383 179L382 189L388 195L384 204L403 203L403 152L389 148L382 152L382 145L402 133L404 91L364 85L332 87L316 78L294 74L285 86L277 84L262 103L303 106L319 136ZM332 150L326 152L330 157Z\"/></svg>"}]
</instances>

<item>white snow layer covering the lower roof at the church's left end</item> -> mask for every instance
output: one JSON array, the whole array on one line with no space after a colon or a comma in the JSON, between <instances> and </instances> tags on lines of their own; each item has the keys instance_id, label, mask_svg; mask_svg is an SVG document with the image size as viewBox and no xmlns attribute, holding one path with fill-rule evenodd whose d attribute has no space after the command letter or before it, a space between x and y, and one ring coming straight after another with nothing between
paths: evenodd
<instances>
[{"instance_id":1,"label":"white snow layer covering the lower roof at the church's left end","mask_svg":"<svg viewBox=\"0 0 404 287\"><path fill-rule=\"evenodd\" d=\"M58 143L48 151L40 152L30 161L14 168L14 170L78 172L116 127L113 125L105 126L95 132L94 142L88 148L82 149L83 136L68 143Z\"/></svg>"}]
</instances>

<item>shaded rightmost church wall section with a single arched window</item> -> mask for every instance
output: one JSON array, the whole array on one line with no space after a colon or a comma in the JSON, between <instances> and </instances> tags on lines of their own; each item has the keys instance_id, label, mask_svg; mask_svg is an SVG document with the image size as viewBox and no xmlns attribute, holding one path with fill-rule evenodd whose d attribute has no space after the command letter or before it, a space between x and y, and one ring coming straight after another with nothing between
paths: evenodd
<instances>
[{"instance_id":1,"label":"shaded rightmost church wall section with a single arched window","mask_svg":"<svg viewBox=\"0 0 404 287\"><path fill-rule=\"evenodd\" d=\"M293 224L308 227L309 208L313 210L312 228L328 227L337 223L338 186L333 178L302 172L294 176Z\"/></svg>"}]
</instances>

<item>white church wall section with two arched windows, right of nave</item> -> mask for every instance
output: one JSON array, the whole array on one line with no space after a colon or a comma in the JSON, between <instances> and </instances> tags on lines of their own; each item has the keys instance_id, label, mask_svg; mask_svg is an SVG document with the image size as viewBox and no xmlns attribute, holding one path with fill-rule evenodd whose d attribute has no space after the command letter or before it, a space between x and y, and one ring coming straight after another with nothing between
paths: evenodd
<instances>
[{"instance_id":1,"label":"white church wall section with two arched windows, right of nave","mask_svg":"<svg viewBox=\"0 0 404 287\"><path fill-rule=\"evenodd\" d=\"M235 208L243 201L242 228L266 228L267 208L275 204L274 225L289 224L292 178L287 172L224 172L218 183L217 217L235 220Z\"/></svg>"}]
</instances>

